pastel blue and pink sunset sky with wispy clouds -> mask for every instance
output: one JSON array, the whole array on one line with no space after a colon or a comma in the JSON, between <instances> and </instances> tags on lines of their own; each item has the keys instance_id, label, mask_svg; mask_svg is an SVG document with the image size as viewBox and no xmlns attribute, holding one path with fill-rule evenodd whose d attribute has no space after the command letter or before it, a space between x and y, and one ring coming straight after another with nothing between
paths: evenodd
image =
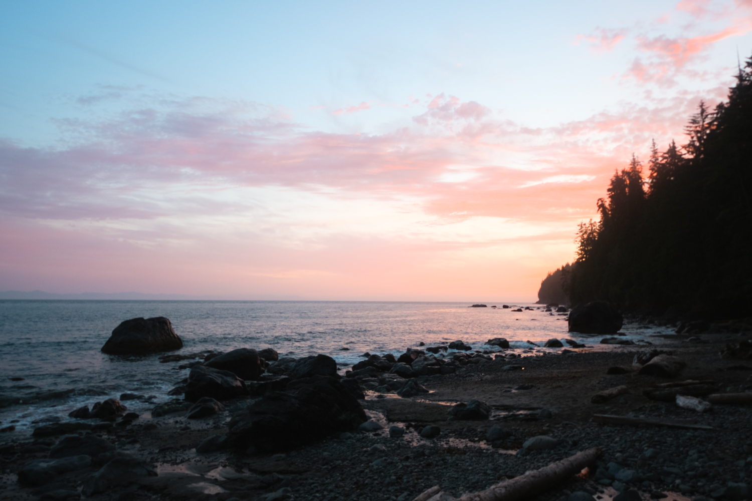
<instances>
[{"instance_id":1,"label":"pastel blue and pink sunset sky with wispy clouds","mask_svg":"<svg viewBox=\"0 0 752 501\"><path fill-rule=\"evenodd\" d=\"M0 3L0 291L537 299L752 0Z\"/></svg>"}]
</instances>

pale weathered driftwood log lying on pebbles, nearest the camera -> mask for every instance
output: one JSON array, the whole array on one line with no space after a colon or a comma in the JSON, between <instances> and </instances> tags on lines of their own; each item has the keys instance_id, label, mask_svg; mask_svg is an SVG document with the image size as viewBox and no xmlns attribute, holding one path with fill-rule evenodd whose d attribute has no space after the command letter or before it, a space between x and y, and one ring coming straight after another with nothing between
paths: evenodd
<instances>
[{"instance_id":1,"label":"pale weathered driftwood log lying on pebbles, nearest the camera","mask_svg":"<svg viewBox=\"0 0 752 501\"><path fill-rule=\"evenodd\" d=\"M511 480L502 481L493 487L481 490L481 492L465 494L459 498L459 501L517 501L518 499L527 499L578 474L584 467L595 463L600 454L599 448L590 448L556 463L551 463L544 468L527 472L525 475L520 475ZM414 501L439 501L439 499L450 501L456 498L441 491L441 488L437 485L417 496Z\"/></svg>"}]
</instances>

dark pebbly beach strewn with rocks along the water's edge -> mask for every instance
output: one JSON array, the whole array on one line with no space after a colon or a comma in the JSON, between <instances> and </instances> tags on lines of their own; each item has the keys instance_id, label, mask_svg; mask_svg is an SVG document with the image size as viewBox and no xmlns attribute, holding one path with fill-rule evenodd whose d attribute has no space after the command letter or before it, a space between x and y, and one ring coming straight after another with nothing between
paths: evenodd
<instances>
[{"instance_id":1,"label":"dark pebbly beach strewn with rocks along the water's edge","mask_svg":"<svg viewBox=\"0 0 752 501\"><path fill-rule=\"evenodd\" d=\"M252 392L265 393L264 379L249 381L248 394L220 399L214 412L199 418L186 414L202 397L190 399L193 403L176 398L171 407L162 404L162 412L142 415L129 415L111 403L110 414L92 409L99 412L98 419L46 424L32 436L8 433L4 440L0 435L0 497L405 501L435 485L452 496L477 492L599 447L602 454L587 474L552 485L535 499L608 500L618 493L619 501L636 501L629 496L752 499L748 404L714 405L709 412L697 412L646 396L646 391L662 388L656 385L687 380L705 382L718 394L750 391L752 367L747 365L752 362L738 359L747 356L743 348L749 337L744 332L702 334L690 329L669 339L655 338L654 346L605 343L603 351L569 346L547 354L503 349L501 341L499 352L471 348L467 355L451 356L444 355L441 346L435 355L426 349L434 347L418 346L405 352L405 357L416 355L411 364L364 357L365 364L353 367L350 377L317 376L298 364L303 379L333 377L353 398L362 392L365 399L357 401L368 421L349 432L318 437L322 424L311 418L294 432L303 439L310 434L311 442L284 451L217 445L216 437L239 436L230 433L231 418L246 412L250 399L259 398ZM641 374L633 365L635 355L644 356L650 349L671 352L684 364L681 372L671 379ZM200 355L203 363L196 367L205 367L208 355ZM381 361L387 364L378 367ZM185 360L173 358L165 363L181 362ZM266 381L292 381L286 373L295 361L279 370L285 363L284 358L272 362ZM175 397L189 382L178 383ZM402 391L408 385L414 393ZM623 391L593 403L594 395L619 387ZM646 423L599 424L595 415ZM80 448L76 440L89 449ZM59 463L50 466L52 461ZM35 474L37 480L30 480Z\"/></svg>"}]
</instances>

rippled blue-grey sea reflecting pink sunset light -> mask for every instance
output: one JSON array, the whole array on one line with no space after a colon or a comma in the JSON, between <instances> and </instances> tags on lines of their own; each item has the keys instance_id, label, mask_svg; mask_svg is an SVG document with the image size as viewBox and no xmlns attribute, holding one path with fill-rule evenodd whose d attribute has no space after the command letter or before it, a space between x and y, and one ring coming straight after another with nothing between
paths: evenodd
<instances>
[{"instance_id":1,"label":"rippled blue-grey sea reflecting pink sunset light","mask_svg":"<svg viewBox=\"0 0 752 501\"><path fill-rule=\"evenodd\" d=\"M187 375L178 364L160 364L159 355L123 358L99 351L121 321L153 316L170 319L183 340L180 353L271 347L280 356L330 355L340 367L362 360L363 352L399 355L420 342L463 340L488 349L487 340L505 337L521 350L530 348L527 340L570 337L562 315L468 303L0 300L0 401L23 399L0 408L0 427L17 421L23 432L36 426L32 421L67 419L79 406L124 392L156 395L156 403L171 398L167 392ZM645 334L629 327L625 332ZM126 405L141 412L153 403Z\"/></svg>"}]
</instances>

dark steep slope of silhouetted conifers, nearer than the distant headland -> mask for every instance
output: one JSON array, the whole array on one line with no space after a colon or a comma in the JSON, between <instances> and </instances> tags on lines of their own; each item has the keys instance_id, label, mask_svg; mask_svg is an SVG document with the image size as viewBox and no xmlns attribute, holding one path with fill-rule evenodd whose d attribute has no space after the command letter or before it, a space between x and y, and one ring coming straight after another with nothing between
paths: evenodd
<instances>
[{"instance_id":1,"label":"dark steep slope of silhouetted conifers, nearer than the distant headland","mask_svg":"<svg viewBox=\"0 0 752 501\"><path fill-rule=\"evenodd\" d=\"M752 315L752 58L729 100L701 103L689 142L653 142L614 174L600 220L581 223L572 304L608 300L629 309Z\"/></svg>"}]
</instances>

